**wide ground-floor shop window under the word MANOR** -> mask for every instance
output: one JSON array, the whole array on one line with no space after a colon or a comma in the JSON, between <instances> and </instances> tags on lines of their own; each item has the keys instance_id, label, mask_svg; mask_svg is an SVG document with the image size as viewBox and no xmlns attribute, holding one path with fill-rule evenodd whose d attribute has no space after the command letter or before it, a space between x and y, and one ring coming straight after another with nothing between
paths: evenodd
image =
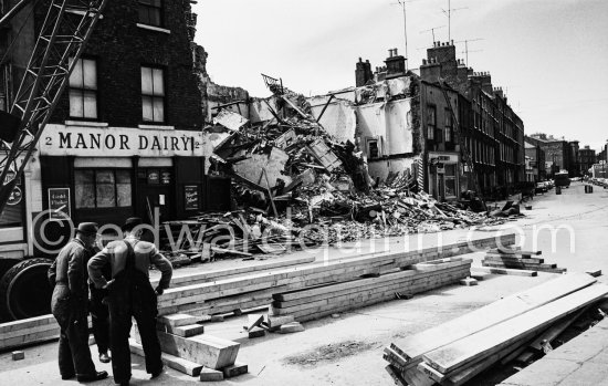
<instances>
[{"instance_id":1,"label":"wide ground-floor shop window under the word MANOR","mask_svg":"<svg viewBox=\"0 0 608 386\"><path fill-rule=\"evenodd\" d=\"M129 170L76 169L76 208L124 208L132 205Z\"/></svg>"}]
</instances>

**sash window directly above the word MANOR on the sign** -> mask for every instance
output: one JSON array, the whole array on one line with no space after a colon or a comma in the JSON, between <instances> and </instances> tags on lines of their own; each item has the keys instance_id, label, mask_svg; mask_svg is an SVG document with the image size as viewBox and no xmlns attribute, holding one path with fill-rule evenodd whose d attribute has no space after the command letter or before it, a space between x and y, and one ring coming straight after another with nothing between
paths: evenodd
<instances>
[{"instance_id":1,"label":"sash window directly above the word MANOR on the sign","mask_svg":"<svg viewBox=\"0 0 608 386\"><path fill-rule=\"evenodd\" d=\"M97 118L97 63L93 59L78 59L70 75L70 116Z\"/></svg>"}]
</instances>

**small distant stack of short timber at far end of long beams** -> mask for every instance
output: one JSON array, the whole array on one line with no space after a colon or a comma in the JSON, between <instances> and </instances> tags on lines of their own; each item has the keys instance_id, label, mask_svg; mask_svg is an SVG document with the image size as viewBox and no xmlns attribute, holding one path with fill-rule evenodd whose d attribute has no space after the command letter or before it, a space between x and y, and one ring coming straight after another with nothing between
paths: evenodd
<instances>
[{"instance_id":1,"label":"small distant stack of short timber at far end of long beams","mask_svg":"<svg viewBox=\"0 0 608 386\"><path fill-rule=\"evenodd\" d=\"M567 271L565 268L557 268L557 264L545 263L544 259L537 258L541 254L541 251L494 248L488 251L485 258L482 260L482 265L551 273L564 273Z\"/></svg>"}]
</instances>

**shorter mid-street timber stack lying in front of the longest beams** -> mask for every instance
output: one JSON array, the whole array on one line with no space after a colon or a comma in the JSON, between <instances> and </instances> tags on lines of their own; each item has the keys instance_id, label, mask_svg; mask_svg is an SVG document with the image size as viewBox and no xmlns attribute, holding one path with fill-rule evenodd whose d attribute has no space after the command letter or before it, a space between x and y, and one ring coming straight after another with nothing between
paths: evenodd
<instances>
[{"instance_id":1,"label":"shorter mid-street timber stack lying in front of the longest beams","mask_svg":"<svg viewBox=\"0 0 608 386\"><path fill-rule=\"evenodd\" d=\"M303 322L396 298L458 283L470 275L472 260L449 258L413 264L377 278L350 280L274 294L271 313Z\"/></svg>"}]
</instances>

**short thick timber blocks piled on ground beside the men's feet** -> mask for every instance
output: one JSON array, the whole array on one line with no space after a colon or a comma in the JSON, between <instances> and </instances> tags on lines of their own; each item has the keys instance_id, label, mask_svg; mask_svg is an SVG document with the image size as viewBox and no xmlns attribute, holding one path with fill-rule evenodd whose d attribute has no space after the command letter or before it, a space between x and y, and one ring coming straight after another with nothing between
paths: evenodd
<instances>
[{"instance_id":1,"label":"short thick timber blocks piled on ground beside the men's feet","mask_svg":"<svg viewBox=\"0 0 608 386\"><path fill-rule=\"evenodd\" d=\"M203 333L203 326L197 324L197 317L187 314L172 314L160 316L157 324L157 334L163 351L163 362L169 367L188 374L199 376L203 368L206 375L230 377L235 374L237 355L240 344L219 338ZM130 351L144 356L141 340L135 325L135 338L129 341ZM245 365L239 365L240 367ZM224 372L224 369L230 369ZM202 380L202 376L201 376Z\"/></svg>"}]
</instances>

